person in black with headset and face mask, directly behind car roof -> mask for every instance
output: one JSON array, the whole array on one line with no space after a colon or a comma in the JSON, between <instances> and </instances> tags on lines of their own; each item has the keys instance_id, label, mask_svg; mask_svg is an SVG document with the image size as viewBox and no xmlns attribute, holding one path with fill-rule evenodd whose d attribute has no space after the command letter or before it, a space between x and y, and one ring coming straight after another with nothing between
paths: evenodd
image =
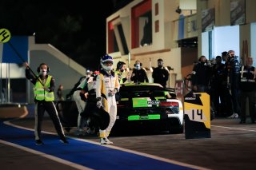
<instances>
[{"instance_id":1,"label":"person in black with headset and face mask, directly behind car roof","mask_svg":"<svg viewBox=\"0 0 256 170\"><path fill-rule=\"evenodd\" d=\"M134 71L131 73L130 81L134 81L134 83L144 83L145 81L148 83L149 79L146 76L146 71L142 69L142 63L140 61L135 61Z\"/></svg>"}]
</instances>

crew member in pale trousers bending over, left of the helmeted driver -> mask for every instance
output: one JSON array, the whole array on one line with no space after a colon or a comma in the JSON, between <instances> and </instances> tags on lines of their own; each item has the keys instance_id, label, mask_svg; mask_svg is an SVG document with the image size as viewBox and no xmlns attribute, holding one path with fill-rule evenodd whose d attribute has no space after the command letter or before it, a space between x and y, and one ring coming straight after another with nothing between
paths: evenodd
<instances>
[{"instance_id":1,"label":"crew member in pale trousers bending over, left of the helmeted driver","mask_svg":"<svg viewBox=\"0 0 256 170\"><path fill-rule=\"evenodd\" d=\"M86 79L83 79L80 85L78 85L77 89L73 93L73 98L78 108L78 129L75 132L77 136L85 134L85 131L83 130L83 128L86 125L86 120L84 119L84 117L81 117L81 113L84 111L86 107L86 98L88 95L88 87L87 87L88 79L89 77L87 77Z\"/></svg>"}]
</instances>

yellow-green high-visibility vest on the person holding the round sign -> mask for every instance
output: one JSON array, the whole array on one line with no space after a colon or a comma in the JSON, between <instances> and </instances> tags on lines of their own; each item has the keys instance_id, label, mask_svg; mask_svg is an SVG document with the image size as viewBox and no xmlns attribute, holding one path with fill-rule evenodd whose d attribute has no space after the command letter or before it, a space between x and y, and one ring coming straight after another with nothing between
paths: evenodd
<instances>
[{"instance_id":1,"label":"yellow-green high-visibility vest on the person holding the round sign","mask_svg":"<svg viewBox=\"0 0 256 170\"><path fill-rule=\"evenodd\" d=\"M40 77L38 77L38 79L42 82ZM47 88L50 88L50 80L51 76L48 75L45 84ZM54 92L48 92L43 89L43 85L40 83L40 81L37 81L34 85L34 98L38 101L54 101Z\"/></svg>"}]
</instances>

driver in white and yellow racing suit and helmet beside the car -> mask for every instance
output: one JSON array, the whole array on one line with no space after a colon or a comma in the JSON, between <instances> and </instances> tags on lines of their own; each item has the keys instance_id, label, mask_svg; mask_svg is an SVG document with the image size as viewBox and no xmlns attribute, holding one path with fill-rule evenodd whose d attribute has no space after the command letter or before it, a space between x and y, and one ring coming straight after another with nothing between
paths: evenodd
<instances>
[{"instance_id":1,"label":"driver in white and yellow racing suit and helmet beside the car","mask_svg":"<svg viewBox=\"0 0 256 170\"><path fill-rule=\"evenodd\" d=\"M120 84L117 74L112 70L113 58L106 54L101 59L101 65L102 69L96 80L97 106L99 108L102 106L110 114L110 124L105 130L99 130L99 137L101 144L113 144L113 142L108 140L108 136L116 121L117 103L115 93L118 92Z\"/></svg>"}]
</instances>

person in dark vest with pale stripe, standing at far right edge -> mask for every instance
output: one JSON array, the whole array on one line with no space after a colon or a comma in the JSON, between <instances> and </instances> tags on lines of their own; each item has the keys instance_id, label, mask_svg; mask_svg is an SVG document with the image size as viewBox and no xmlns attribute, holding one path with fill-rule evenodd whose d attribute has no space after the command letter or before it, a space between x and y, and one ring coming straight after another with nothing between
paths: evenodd
<instances>
[{"instance_id":1,"label":"person in dark vest with pale stripe, standing at far right edge","mask_svg":"<svg viewBox=\"0 0 256 170\"><path fill-rule=\"evenodd\" d=\"M255 123L256 118L256 70L253 65L253 58L246 58L246 66L242 66L239 71L240 103L241 103L241 121L246 123L246 99L249 100L249 111L251 123Z\"/></svg>"}]
</instances>

